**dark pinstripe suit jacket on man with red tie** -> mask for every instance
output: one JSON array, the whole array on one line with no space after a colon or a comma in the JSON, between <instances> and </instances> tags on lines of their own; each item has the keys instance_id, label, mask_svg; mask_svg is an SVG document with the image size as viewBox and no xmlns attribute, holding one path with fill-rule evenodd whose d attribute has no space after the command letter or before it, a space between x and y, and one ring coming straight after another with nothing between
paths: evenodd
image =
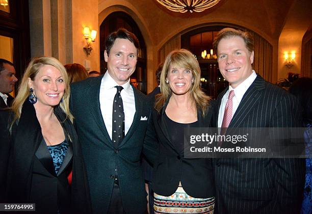
<instances>
[{"instance_id":1,"label":"dark pinstripe suit jacket on man with red tie","mask_svg":"<svg viewBox=\"0 0 312 214\"><path fill-rule=\"evenodd\" d=\"M216 100L216 118L227 90ZM300 117L294 96L258 75L244 94L229 127L300 127ZM217 210L298 213L304 170L304 159L296 158L215 159Z\"/></svg>"}]
</instances>

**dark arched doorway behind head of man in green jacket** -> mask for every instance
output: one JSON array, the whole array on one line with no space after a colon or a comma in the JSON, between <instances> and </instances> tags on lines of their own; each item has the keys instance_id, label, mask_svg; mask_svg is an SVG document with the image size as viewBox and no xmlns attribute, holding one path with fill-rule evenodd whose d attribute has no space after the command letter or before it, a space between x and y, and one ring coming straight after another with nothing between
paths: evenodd
<instances>
[{"instance_id":1,"label":"dark arched doorway behind head of man in green jacket","mask_svg":"<svg viewBox=\"0 0 312 214\"><path fill-rule=\"evenodd\" d=\"M134 33L139 39L140 49L137 68L132 77L137 79L138 89L146 94L146 45L137 23L125 12L113 12L100 24L100 71L105 73L107 70L107 63L104 60L105 39L111 32L119 28L124 28Z\"/></svg>"}]
</instances>

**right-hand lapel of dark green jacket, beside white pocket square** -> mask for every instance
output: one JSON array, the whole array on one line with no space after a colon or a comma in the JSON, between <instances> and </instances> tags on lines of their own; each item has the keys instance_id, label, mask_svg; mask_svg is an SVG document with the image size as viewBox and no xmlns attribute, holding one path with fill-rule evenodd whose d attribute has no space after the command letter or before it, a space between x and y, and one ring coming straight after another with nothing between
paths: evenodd
<instances>
[{"instance_id":1,"label":"right-hand lapel of dark green jacket, beside white pocket square","mask_svg":"<svg viewBox=\"0 0 312 214\"><path fill-rule=\"evenodd\" d=\"M137 89L135 89L132 85L131 85L131 87L133 89L133 93L134 93L134 97L135 97L136 113L133 117L133 121L132 121L132 124L131 124L128 132L126 133L126 135L124 136L123 140L118 145L118 147L123 146L131 138L131 136L133 135L133 133L136 130L136 127L140 121L140 117L141 116L147 116L148 117L148 115L142 115L142 113L143 113L143 102L139 97L139 93L137 92Z\"/></svg>"}]
</instances>

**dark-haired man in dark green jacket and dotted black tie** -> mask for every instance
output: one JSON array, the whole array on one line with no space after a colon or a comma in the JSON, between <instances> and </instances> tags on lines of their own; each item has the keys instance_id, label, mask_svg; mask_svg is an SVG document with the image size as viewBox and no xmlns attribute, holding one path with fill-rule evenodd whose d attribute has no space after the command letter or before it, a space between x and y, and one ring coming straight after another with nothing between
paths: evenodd
<instances>
[{"instance_id":1,"label":"dark-haired man in dark green jacket and dotted black tie","mask_svg":"<svg viewBox=\"0 0 312 214\"><path fill-rule=\"evenodd\" d=\"M146 191L141 151L153 162L156 145L144 143L150 107L129 84L139 41L125 29L105 41L108 71L71 85L71 111L88 173L94 213L143 213Z\"/></svg>"}]
</instances>

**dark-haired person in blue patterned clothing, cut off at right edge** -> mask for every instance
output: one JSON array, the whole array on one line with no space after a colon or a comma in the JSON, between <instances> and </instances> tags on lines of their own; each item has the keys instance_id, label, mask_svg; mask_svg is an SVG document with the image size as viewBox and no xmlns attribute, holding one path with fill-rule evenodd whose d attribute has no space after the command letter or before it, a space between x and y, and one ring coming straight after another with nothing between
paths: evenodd
<instances>
[{"instance_id":1,"label":"dark-haired person in blue patterned clothing, cut off at right edge","mask_svg":"<svg viewBox=\"0 0 312 214\"><path fill-rule=\"evenodd\" d=\"M312 154L312 78L301 77L290 87L289 92L295 95L303 109L303 125L307 127L304 135L305 154ZM305 159L305 184L301 213L312 213L312 158Z\"/></svg>"}]
</instances>

